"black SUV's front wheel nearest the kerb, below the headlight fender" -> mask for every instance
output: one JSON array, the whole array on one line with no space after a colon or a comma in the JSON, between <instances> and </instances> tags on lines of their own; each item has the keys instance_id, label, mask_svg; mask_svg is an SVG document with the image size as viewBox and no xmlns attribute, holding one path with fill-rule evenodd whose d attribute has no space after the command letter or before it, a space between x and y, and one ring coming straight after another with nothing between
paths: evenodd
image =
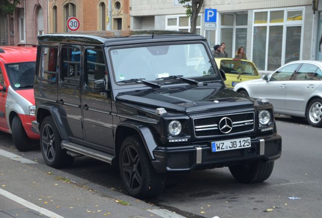
<instances>
[{"instance_id":1,"label":"black SUV's front wheel nearest the kerb, below the headlight fender","mask_svg":"<svg viewBox=\"0 0 322 218\"><path fill-rule=\"evenodd\" d=\"M132 135L123 141L118 164L123 184L131 196L150 198L163 191L165 175L155 172L139 136Z\"/></svg>"}]
</instances>

